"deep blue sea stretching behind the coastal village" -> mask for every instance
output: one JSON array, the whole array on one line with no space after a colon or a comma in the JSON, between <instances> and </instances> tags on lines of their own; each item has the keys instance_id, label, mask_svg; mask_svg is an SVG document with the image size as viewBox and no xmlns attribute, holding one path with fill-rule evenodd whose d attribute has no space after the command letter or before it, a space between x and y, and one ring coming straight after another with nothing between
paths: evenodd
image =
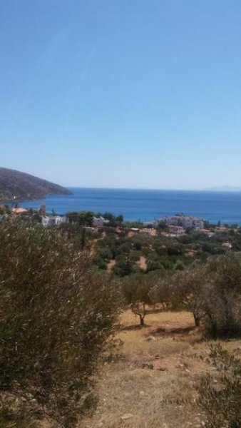
<instances>
[{"instance_id":1,"label":"deep blue sea stretching behind the coastal village","mask_svg":"<svg viewBox=\"0 0 241 428\"><path fill-rule=\"evenodd\" d=\"M95 213L122 214L125 220L157 220L177 213L195 215L210 223L241 225L241 193L193 190L132 190L70 188L72 195L48 196L46 211L58 214L91 210ZM21 202L26 208L39 209L43 200Z\"/></svg>"}]
</instances>

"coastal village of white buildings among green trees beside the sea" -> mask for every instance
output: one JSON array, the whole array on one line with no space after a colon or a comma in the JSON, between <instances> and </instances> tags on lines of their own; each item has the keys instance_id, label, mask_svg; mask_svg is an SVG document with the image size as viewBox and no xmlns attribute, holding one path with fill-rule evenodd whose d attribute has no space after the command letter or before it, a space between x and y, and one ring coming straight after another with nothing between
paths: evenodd
<instances>
[{"instance_id":1,"label":"coastal village of white buildings among green trees beside the sea","mask_svg":"<svg viewBox=\"0 0 241 428\"><path fill-rule=\"evenodd\" d=\"M3 211L3 208L2 208ZM4 214L1 213L3 216ZM80 211L57 215L14 207L5 213L33 218L43 228L55 228L88 250L93 265L118 277L153 271L184 269L211 255L241 250L238 225L210 224L191 215L176 214L153 222L127 222L122 215Z\"/></svg>"}]
</instances>

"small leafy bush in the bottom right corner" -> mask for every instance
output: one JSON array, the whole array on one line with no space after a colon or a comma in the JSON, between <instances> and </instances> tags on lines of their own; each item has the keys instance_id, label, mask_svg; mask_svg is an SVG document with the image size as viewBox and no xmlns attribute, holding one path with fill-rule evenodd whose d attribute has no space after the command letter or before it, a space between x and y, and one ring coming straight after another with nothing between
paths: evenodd
<instances>
[{"instance_id":1,"label":"small leafy bush in the bottom right corner","mask_svg":"<svg viewBox=\"0 0 241 428\"><path fill-rule=\"evenodd\" d=\"M199 404L207 428L241 427L241 362L220 345L211 347L210 364L217 376L206 374L199 387Z\"/></svg>"}]
</instances>

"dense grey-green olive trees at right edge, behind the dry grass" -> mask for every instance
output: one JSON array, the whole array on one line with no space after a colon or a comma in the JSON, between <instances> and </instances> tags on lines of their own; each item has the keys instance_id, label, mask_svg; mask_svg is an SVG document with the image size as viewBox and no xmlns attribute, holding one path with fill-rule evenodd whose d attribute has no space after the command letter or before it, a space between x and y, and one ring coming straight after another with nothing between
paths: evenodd
<instances>
[{"instance_id":1,"label":"dense grey-green olive trees at right edge, behind the dry grass","mask_svg":"<svg viewBox=\"0 0 241 428\"><path fill-rule=\"evenodd\" d=\"M191 265L158 280L153 301L163 299L163 287L170 307L193 312L195 325L210 337L241 335L241 255L215 256L202 265Z\"/></svg>"}]
</instances>

